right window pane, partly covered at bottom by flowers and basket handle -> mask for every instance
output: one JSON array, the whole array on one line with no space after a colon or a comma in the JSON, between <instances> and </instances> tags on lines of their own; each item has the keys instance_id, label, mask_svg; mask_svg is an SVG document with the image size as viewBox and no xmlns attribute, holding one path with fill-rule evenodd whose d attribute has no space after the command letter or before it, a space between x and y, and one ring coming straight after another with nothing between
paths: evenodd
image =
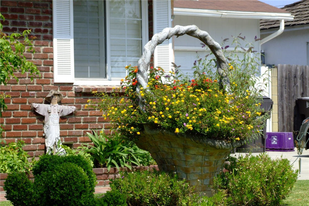
<instances>
[{"instance_id":1,"label":"right window pane, partly covered at bottom by flowers and basket handle","mask_svg":"<svg viewBox=\"0 0 309 206\"><path fill-rule=\"evenodd\" d=\"M111 77L124 78L124 67L141 57L141 2L111 0L109 11Z\"/></svg>"}]
</instances>

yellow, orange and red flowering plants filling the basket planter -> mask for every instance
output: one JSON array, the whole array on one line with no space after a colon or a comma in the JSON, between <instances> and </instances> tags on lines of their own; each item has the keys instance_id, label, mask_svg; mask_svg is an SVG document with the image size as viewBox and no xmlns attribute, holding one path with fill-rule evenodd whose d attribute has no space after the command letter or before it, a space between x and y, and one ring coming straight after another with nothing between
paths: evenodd
<instances>
[{"instance_id":1,"label":"yellow, orange and red flowering plants filling the basket planter","mask_svg":"<svg viewBox=\"0 0 309 206\"><path fill-rule=\"evenodd\" d=\"M171 30L168 35L170 33ZM152 45L155 40L153 38ZM204 43L208 43L216 59L195 61L194 78L179 74L177 66L169 72L161 67L150 67L147 73L149 62L143 63L148 58L144 52L139 66L125 67L127 76L121 80L124 94L119 91L111 95L94 92L101 101L89 100L89 106L100 109L104 119L109 119L120 137L127 141L136 141L144 124L227 143L250 139L264 122L260 108L261 90L256 87L257 63L250 55L247 59L231 59L228 63L221 46L214 42L216 50L209 41ZM219 57L218 51L221 52ZM225 65L225 68L218 66L213 72L211 62Z\"/></svg>"}]
</instances>

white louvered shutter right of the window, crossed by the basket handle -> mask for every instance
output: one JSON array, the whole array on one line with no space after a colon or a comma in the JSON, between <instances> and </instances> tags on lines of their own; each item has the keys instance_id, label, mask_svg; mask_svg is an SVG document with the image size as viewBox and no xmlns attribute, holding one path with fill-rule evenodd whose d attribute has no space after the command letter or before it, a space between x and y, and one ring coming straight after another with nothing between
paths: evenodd
<instances>
[{"instance_id":1,"label":"white louvered shutter right of the window, crossed by the basket handle","mask_svg":"<svg viewBox=\"0 0 309 206\"><path fill-rule=\"evenodd\" d=\"M153 22L154 34L161 32L167 27L172 27L171 20L171 1L170 0L157 0L153 1ZM154 52L154 65L160 66L166 73L171 69L172 62L172 38L165 40L155 48Z\"/></svg>"}]
</instances>

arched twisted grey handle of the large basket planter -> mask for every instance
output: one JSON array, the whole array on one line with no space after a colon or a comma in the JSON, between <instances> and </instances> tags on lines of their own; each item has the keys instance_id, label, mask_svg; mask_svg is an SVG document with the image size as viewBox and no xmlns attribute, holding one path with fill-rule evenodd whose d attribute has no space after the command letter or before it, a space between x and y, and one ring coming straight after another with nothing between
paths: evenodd
<instances>
[{"instance_id":1,"label":"arched twisted grey handle of the large basket planter","mask_svg":"<svg viewBox=\"0 0 309 206\"><path fill-rule=\"evenodd\" d=\"M174 28L165 28L162 32L155 34L151 41L149 41L145 47L144 52L141 56L141 58L138 60L138 72L136 74L137 78L137 87L136 92L139 98L139 105L141 108L143 107L145 101L144 98L140 96L140 87L147 88L148 83L148 68L150 64L150 57L155 51L155 47L159 44L161 44L164 40L171 38L172 36L176 35L182 36L184 34L188 34L192 37L198 38L201 40L204 44L206 44L209 49L213 52L213 54L217 58L217 71L220 75L219 83L221 86L225 84L227 88L230 88L230 82L226 75L226 69L228 68L228 63L223 55L221 46L211 38L211 36L205 32L200 30L195 25L190 26L175 26Z\"/></svg>"}]
</instances>

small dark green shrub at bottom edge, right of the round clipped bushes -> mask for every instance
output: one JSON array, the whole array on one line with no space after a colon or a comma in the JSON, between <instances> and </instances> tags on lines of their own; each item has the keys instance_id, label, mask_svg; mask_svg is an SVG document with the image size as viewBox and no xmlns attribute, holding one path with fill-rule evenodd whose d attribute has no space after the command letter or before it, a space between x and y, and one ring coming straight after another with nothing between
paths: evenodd
<instances>
[{"instance_id":1,"label":"small dark green shrub at bottom edge, right of the round clipped bushes","mask_svg":"<svg viewBox=\"0 0 309 206\"><path fill-rule=\"evenodd\" d=\"M125 195L118 190L107 191L101 198L96 199L96 206L127 206Z\"/></svg>"}]
</instances>

